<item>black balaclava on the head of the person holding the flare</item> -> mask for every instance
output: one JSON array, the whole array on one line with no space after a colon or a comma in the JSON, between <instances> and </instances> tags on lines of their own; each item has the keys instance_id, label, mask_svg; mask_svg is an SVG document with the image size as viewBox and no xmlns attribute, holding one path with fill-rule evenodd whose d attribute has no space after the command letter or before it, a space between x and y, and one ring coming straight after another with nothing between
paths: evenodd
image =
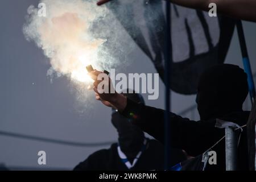
<instances>
[{"instance_id":1,"label":"black balaclava on the head of the person holding the flare","mask_svg":"<svg viewBox=\"0 0 256 182\"><path fill-rule=\"evenodd\" d=\"M201 120L242 111L248 94L247 75L237 65L218 64L199 79L196 97Z\"/></svg>"}]
</instances>

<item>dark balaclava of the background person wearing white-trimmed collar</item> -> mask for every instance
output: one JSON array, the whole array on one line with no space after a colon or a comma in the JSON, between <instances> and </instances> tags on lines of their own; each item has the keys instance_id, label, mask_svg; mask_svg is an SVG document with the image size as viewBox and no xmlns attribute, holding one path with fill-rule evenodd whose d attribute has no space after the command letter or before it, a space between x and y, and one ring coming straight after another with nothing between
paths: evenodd
<instances>
[{"instance_id":1,"label":"dark balaclava of the background person wearing white-trimmed collar","mask_svg":"<svg viewBox=\"0 0 256 182\"><path fill-rule=\"evenodd\" d=\"M144 104L143 98L137 93L123 94L134 102ZM133 125L129 119L118 112L112 114L112 124L118 132L118 143L122 152L129 160L133 160L141 151L144 141L144 133L139 127Z\"/></svg>"}]
</instances>

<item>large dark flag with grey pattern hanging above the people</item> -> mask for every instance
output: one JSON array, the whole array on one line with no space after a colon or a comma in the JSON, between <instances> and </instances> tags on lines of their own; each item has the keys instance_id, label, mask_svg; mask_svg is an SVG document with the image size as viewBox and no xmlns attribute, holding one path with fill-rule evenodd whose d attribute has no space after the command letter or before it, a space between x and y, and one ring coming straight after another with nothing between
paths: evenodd
<instances>
[{"instance_id":1,"label":"large dark flag with grey pattern hanging above the people","mask_svg":"<svg viewBox=\"0 0 256 182\"><path fill-rule=\"evenodd\" d=\"M107 4L135 43L164 78L164 5L160 0L115 0ZM171 89L195 94L200 74L224 63L234 31L234 20L171 5Z\"/></svg>"}]
</instances>

